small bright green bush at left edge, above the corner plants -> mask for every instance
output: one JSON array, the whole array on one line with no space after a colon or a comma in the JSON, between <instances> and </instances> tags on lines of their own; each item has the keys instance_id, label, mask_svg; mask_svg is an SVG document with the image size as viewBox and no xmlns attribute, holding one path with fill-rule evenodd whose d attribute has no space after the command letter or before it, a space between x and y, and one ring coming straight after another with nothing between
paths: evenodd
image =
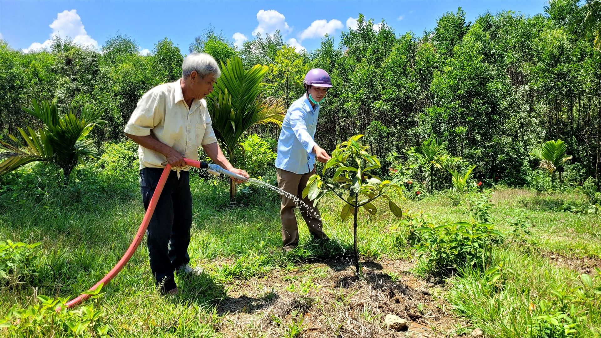
<instances>
[{"instance_id":1,"label":"small bright green bush at left edge, above the corner plants","mask_svg":"<svg viewBox=\"0 0 601 338\"><path fill-rule=\"evenodd\" d=\"M37 274L34 248L40 245L0 241L0 285L23 283Z\"/></svg>"}]
</instances>

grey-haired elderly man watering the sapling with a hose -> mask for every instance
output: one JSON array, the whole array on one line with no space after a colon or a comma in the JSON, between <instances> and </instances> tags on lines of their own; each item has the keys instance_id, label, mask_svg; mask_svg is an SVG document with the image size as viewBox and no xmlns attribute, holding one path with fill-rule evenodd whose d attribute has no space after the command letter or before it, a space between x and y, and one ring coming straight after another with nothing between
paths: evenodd
<instances>
[{"instance_id":1,"label":"grey-haired elderly man watering the sapling with a hose","mask_svg":"<svg viewBox=\"0 0 601 338\"><path fill-rule=\"evenodd\" d=\"M184 158L197 159L198 148L203 146L216 164L248 177L244 170L233 168L227 161L211 126L204 97L213 91L220 75L221 70L210 55L188 55L182 64L182 78L145 93L125 128L127 137L139 144L145 208L165 168L163 163L168 162L172 167L147 231L150 269L163 294L178 292L174 271L195 272L188 265L192 194L190 167Z\"/></svg>"}]
</instances>

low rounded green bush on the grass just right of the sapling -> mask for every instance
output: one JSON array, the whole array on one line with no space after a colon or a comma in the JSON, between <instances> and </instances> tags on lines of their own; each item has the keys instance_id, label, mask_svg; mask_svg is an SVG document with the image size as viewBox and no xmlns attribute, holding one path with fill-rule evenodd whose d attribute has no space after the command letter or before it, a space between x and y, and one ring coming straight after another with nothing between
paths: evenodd
<instances>
[{"instance_id":1,"label":"low rounded green bush on the grass just right of the sapling","mask_svg":"<svg viewBox=\"0 0 601 338\"><path fill-rule=\"evenodd\" d=\"M421 242L414 248L426 258L432 274L449 275L465 266L484 271L492 265L492 250L504 235L493 224L459 222L418 227Z\"/></svg>"}]
</instances>

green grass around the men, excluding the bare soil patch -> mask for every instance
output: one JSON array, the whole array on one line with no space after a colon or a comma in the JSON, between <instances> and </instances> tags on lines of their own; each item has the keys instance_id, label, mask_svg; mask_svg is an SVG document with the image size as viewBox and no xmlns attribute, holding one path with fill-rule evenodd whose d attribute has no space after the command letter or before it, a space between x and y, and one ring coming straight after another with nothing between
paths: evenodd
<instances>
[{"instance_id":1,"label":"green grass around the men, excluding the bare soil patch","mask_svg":"<svg viewBox=\"0 0 601 338\"><path fill-rule=\"evenodd\" d=\"M23 171L12 177L31 174ZM34 304L35 295L79 295L114 266L132 241L144 213L136 185L131 183L135 173L108 183L96 182L83 170L75 172L74 178L67 188L46 182L29 197L13 198L8 192L2 195L0 239L42 243L40 270L31 281L33 287L0 288L2 313L15 303ZM219 327L227 325L219 319L224 313L210 313L214 304L227 297L232 280L262 278L273 269L302 267L316 257L340 259L352 251L352 223L341 223L337 211L340 201L335 197L320 201L324 229L332 241L326 247L313 244L298 217L300 245L285 254L280 249L277 197L253 200L242 195L240 200L247 205L228 209L227 185L219 183L215 188L197 176L192 177L192 194L194 223L189 253L192 265L205 268L203 275L193 280L177 278L180 295L161 297L154 289L143 241L126 268L104 289L106 316L118 332L143 337L219 336ZM550 298L552 287L578 283L578 272L552 265L541 254L601 257L600 215L525 207L522 201L534 196L534 192L504 188L497 189L493 197L494 223L508 231L509 220L522 217L531 226L531 239L537 242L531 253L499 248L496 256L515 271L508 277L507 287L491 290L482 276L469 271L450 282L449 297L458 313L490 334L520 336L531 320L526 301ZM573 198L573 194L555 197ZM410 259L407 231L383 203L376 201L381 210L377 216L365 212L359 218L362 260ZM423 211L437 224L469 219L465 207L453 205L442 194L419 201L400 199L398 204L413 212ZM599 315L598 301L586 304L591 307L591 318ZM601 323L588 319L582 325L584 336L592 337L590 327Z\"/></svg>"}]
</instances>

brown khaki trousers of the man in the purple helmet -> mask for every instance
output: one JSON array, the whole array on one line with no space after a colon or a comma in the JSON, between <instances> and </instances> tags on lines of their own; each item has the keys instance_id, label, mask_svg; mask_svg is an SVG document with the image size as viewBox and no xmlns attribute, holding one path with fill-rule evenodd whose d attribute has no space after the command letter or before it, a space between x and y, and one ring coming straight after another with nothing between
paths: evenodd
<instances>
[{"instance_id":1,"label":"brown khaki trousers of the man in the purple helmet","mask_svg":"<svg viewBox=\"0 0 601 338\"><path fill-rule=\"evenodd\" d=\"M308 197L302 198L302 191L307 186L309 177L314 173L295 174L291 171L277 168L278 170L278 186L285 192L288 192L308 204L309 207L301 204L302 218L304 218L309 228L309 232L318 239L326 239L328 236L322 230L321 216L317 207L313 207L313 201ZM294 248L299 244L299 229L294 215L294 207L296 203L292 198L282 195L282 204L279 208L279 218L282 221L282 242L285 247ZM316 213L317 215L313 214Z\"/></svg>"}]
</instances>

